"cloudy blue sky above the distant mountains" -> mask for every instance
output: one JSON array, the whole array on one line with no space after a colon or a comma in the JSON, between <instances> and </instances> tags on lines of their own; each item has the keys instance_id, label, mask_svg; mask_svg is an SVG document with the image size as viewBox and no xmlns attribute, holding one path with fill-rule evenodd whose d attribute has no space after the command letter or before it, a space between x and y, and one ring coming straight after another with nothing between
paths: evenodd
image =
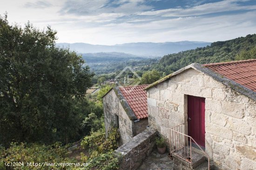
<instances>
[{"instance_id":1,"label":"cloudy blue sky above the distant mountains","mask_svg":"<svg viewBox=\"0 0 256 170\"><path fill-rule=\"evenodd\" d=\"M256 0L1 0L0 15L58 43L229 40L256 33Z\"/></svg>"}]
</instances>

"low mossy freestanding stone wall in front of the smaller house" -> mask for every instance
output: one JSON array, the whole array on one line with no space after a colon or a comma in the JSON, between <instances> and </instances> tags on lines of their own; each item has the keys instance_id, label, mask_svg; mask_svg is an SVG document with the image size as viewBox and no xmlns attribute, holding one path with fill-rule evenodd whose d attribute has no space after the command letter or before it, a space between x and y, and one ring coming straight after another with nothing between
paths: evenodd
<instances>
[{"instance_id":1,"label":"low mossy freestanding stone wall in front of the smaller house","mask_svg":"<svg viewBox=\"0 0 256 170\"><path fill-rule=\"evenodd\" d=\"M131 141L116 150L121 153L120 170L136 170L142 161L148 157L155 146L156 130L147 127L146 130L132 138Z\"/></svg>"}]
</instances>

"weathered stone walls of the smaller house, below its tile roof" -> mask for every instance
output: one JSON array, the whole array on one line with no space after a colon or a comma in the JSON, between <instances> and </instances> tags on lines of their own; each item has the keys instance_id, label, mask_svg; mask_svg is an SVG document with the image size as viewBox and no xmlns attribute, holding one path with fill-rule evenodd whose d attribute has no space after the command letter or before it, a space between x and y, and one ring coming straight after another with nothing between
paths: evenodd
<instances>
[{"instance_id":1,"label":"weathered stone walls of the smaller house, below its tile roof","mask_svg":"<svg viewBox=\"0 0 256 170\"><path fill-rule=\"evenodd\" d=\"M119 144L122 145L130 141L135 135L145 130L148 126L148 119L138 121L134 113L131 111L131 108L124 103L121 103L126 101L120 99L121 97L118 96L119 94L117 95L117 93L119 93L117 90L118 89L112 89L103 97L104 122L106 134L108 134L107 132L111 125L116 125L115 115L118 116L120 132Z\"/></svg>"}]
</instances>

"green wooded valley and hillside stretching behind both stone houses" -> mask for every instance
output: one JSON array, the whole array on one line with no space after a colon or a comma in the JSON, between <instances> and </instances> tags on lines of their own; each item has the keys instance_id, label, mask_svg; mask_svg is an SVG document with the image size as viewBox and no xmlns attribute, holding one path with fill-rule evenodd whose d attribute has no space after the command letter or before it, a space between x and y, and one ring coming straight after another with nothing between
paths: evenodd
<instances>
[{"instance_id":1,"label":"green wooded valley and hillside stretching behind both stone houses","mask_svg":"<svg viewBox=\"0 0 256 170\"><path fill-rule=\"evenodd\" d=\"M126 75L131 75L132 78L135 78L135 84L138 82L139 84L150 84L191 63L217 63L251 58L256 58L256 34L228 41L214 42L210 46L195 50L169 54L162 57L158 63L156 63L157 59L148 59L145 61L100 64L96 66L99 69L98 73L102 71L101 73L111 74L94 76L93 82L98 81L100 83L105 78L106 80L115 78L126 66L131 66L141 76L142 80L139 80L132 72L127 71ZM144 64L144 66L137 67L140 63Z\"/></svg>"}]
</instances>

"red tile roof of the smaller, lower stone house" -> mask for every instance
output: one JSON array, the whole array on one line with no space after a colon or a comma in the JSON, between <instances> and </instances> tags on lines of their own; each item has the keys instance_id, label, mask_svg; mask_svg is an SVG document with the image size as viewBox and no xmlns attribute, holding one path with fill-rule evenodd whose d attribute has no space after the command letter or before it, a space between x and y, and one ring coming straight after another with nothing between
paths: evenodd
<instances>
[{"instance_id":1,"label":"red tile roof of the smaller, lower stone house","mask_svg":"<svg viewBox=\"0 0 256 170\"><path fill-rule=\"evenodd\" d=\"M148 118L147 92L148 85L128 86L120 88L121 93L138 119Z\"/></svg>"}]
</instances>

